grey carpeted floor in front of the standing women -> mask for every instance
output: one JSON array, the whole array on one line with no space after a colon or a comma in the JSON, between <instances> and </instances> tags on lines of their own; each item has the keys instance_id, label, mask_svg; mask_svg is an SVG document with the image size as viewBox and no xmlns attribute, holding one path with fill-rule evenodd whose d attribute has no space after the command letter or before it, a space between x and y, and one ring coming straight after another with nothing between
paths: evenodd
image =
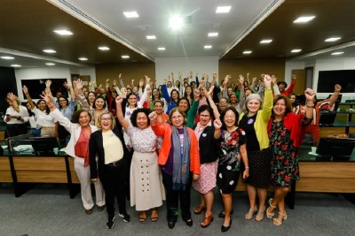
<instances>
[{"instance_id":1,"label":"grey carpeted floor in front of the standing women","mask_svg":"<svg viewBox=\"0 0 355 236\"><path fill-rule=\"evenodd\" d=\"M193 190L192 207L199 203L199 195ZM138 212L130 208L130 223L116 216L114 228L106 229L106 211L97 209L91 215L83 210L80 195L70 199L64 185L37 185L28 193L16 198L11 185L0 184L0 235L1 236L55 236L55 235L354 235L355 206L339 194L296 194L295 209L288 210L288 219L279 227L264 217L262 222L245 220L248 211L246 193L233 194L233 225L222 233L222 219L217 217L222 205L216 197L214 221L208 228L201 228L203 215L193 215L193 227L188 227L181 217L170 230L166 221L165 205L160 208L156 223L138 222Z\"/></svg>"}]
</instances>

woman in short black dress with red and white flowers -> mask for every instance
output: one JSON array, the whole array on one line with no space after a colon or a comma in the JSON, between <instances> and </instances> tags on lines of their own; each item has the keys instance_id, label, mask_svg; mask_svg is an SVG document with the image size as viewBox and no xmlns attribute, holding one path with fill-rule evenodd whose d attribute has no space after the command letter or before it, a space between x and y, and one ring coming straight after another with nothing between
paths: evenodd
<instances>
[{"instance_id":1,"label":"woman in short black dress with red and white flowers","mask_svg":"<svg viewBox=\"0 0 355 236\"><path fill-rule=\"evenodd\" d=\"M215 139L217 139L219 146L217 186L222 194L225 207L224 212L220 214L225 217L221 227L222 232L228 231L232 225L232 193L241 173L241 161L245 165L243 179L247 179L249 176L247 139L245 132L237 126L238 117L238 112L233 107L228 107L222 112L221 120L214 121Z\"/></svg>"}]
</instances>

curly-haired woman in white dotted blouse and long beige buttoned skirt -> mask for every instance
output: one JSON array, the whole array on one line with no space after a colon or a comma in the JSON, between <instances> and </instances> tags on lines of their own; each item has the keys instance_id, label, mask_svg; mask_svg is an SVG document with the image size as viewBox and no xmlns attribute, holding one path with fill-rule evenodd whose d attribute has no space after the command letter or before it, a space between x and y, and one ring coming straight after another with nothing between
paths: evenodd
<instances>
[{"instance_id":1,"label":"curly-haired woman in white dotted blouse and long beige buttoned skirt","mask_svg":"<svg viewBox=\"0 0 355 236\"><path fill-rule=\"evenodd\" d=\"M146 211L152 210L151 220L155 222L159 217L157 208L165 200L157 155L162 139L154 134L150 126L150 109L134 110L130 120L127 120L123 117L122 100L120 96L116 98L117 118L130 136L134 149L130 165L130 206L136 206L141 223L146 222Z\"/></svg>"}]
</instances>

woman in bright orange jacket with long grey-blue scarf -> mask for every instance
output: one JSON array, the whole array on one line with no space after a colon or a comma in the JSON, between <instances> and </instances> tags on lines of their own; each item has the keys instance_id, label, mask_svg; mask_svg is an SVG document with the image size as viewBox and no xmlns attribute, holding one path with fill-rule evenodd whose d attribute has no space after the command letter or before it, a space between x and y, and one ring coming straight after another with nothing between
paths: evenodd
<instances>
[{"instance_id":1,"label":"woman in bright orange jacket with long grey-blue scarf","mask_svg":"<svg viewBox=\"0 0 355 236\"><path fill-rule=\"evenodd\" d=\"M200 178L199 144L196 135L192 129L185 126L185 112L178 107L170 111L169 124L159 125L155 111L149 118L155 135L163 138L158 163L166 189L168 226L172 229L177 222L180 200L183 220L191 227L191 185L193 180Z\"/></svg>"}]
</instances>

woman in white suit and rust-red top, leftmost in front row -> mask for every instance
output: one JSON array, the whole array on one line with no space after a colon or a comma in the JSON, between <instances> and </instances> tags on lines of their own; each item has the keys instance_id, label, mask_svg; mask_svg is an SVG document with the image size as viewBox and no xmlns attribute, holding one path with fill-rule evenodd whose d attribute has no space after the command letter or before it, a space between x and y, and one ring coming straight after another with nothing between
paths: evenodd
<instances>
[{"instance_id":1,"label":"woman in white suit and rust-red top, leftmost in front row","mask_svg":"<svg viewBox=\"0 0 355 236\"><path fill-rule=\"evenodd\" d=\"M91 133L98 130L96 126L91 126L91 114L89 110L77 110L73 114L73 123L63 116L56 108L51 99L51 91L46 89L44 101L50 107L50 116L57 120L59 124L70 133L70 140L67 143L67 155L74 157L74 169L80 181L83 208L85 213L90 215L95 204L91 195L90 160L89 160L89 140ZM96 164L94 165L96 168ZM100 182L94 183L96 193L96 204L99 211L105 209L105 192Z\"/></svg>"}]
</instances>

